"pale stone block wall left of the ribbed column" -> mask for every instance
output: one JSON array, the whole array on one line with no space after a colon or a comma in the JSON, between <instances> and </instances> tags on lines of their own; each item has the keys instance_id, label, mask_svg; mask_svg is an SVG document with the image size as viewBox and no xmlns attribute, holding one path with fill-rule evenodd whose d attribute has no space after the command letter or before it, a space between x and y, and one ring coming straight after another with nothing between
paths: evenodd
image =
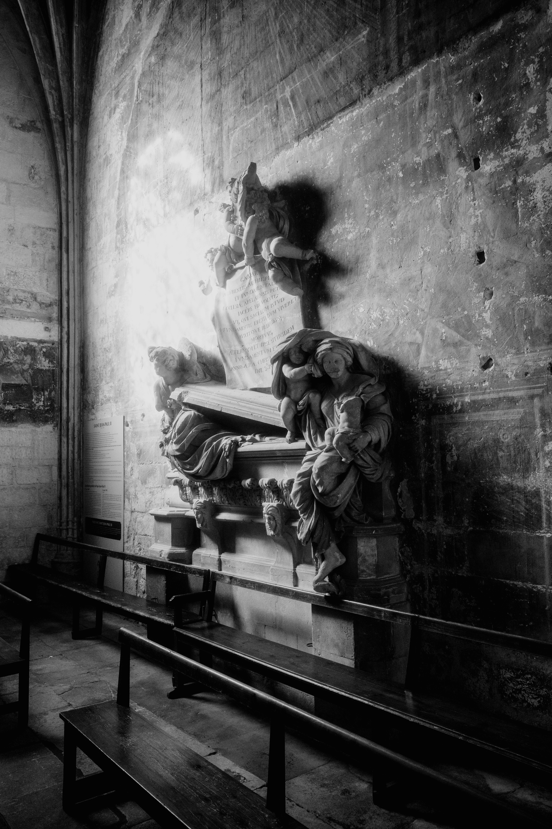
<instances>
[{"instance_id":1,"label":"pale stone block wall left of the ribbed column","mask_svg":"<svg viewBox=\"0 0 552 829\"><path fill-rule=\"evenodd\" d=\"M57 516L58 218L41 80L0 0L0 578Z\"/></svg>"}]
</instances>

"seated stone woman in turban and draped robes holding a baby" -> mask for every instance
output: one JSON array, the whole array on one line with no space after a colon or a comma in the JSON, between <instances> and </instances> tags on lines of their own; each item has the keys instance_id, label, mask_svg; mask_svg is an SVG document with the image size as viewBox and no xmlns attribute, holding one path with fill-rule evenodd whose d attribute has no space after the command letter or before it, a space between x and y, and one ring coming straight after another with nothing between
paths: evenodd
<instances>
[{"instance_id":1,"label":"seated stone woman in turban and draped robes holding a baby","mask_svg":"<svg viewBox=\"0 0 552 829\"><path fill-rule=\"evenodd\" d=\"M379 382L377 362L367 347L310 328L288 337L272 356L276 398L286 396L284 366L290 349L308 355L305 365L310 366L313 388L320 395L314 411L305 400L295 414L309 447L291 491L300 515L297 535L303 544L312 542L318 560L314 590L343 594L335 570L345 557L335 533L343 524L367 520L362 478L379 482L389 476L391 462L385 448L391 438L391 407L386 387Z\"/></svg>"}]
</instances>

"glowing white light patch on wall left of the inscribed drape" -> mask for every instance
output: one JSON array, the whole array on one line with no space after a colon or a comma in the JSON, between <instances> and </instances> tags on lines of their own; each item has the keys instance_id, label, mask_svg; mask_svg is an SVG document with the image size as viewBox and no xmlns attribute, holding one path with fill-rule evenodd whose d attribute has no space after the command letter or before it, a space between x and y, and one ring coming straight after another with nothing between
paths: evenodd
<instances>
[{"instance_id":1,"label":"glowing white light patch on wall left of the inscribed drape","mask_svg":"<svg viewBox=\"0 0 552 829\"><path fill-rule=\"evenodd\" d=\"M209 278L204 254L224 241L224 230L220 214L213 217L215 234L213 218L204 225L202 214L194 214L194 192L202 177L200 161L183 146L180 133L171 130L138 156L128 181L126 256L119 274L126 285L121 313L137 402L151 398L149 346L176 347L181 337L188 337L216 348L210 320L215 293L204 296L198 282Z\"/></svg>"}]
</instances>

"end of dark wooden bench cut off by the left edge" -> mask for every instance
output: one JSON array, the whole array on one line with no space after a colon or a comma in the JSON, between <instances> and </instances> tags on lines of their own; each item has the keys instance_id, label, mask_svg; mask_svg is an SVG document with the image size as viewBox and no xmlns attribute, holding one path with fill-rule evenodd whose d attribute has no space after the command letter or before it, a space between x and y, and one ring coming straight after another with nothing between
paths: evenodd
<instances>
[{"instance_id":1,"label":"end of dark wooden bench cut off by the left edge","mask_svg":"<svg viewBox=\"0 0 552 829\"><path fill-rule=\"evenodd\" d=\"M30 616L31 599L16 593L15 590L0 584L0 594L15 602L22 608L22 629L19 652L0 639L0 676L19 676L19 692L17 702L8 702L0 705L0 715L12 714L17 711L17 725L26 728L29 721L29 645L30 645Z\"/></svg>"}]
</instances>

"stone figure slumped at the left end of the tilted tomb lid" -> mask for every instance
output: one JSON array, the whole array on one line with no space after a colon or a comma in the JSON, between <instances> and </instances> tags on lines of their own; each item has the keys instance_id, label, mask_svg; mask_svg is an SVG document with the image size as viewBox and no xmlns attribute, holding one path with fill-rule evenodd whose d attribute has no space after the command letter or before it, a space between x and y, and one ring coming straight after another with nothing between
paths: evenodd
<instances>
[{"instance_id":1,"label":"stone figure slumped at the left end of the tilted tomb lid","mask_svg":"<svg viewBox=\"0 0 552 829\"><path fill-rule=\"evenodd\" d=\"M165 413L166 424L172 423L175 417L170 395L179 385L224 379L223 365L216 355L195 347L186 337L182 337L178 346L178 349L164 346L147 349L157 375L153 385L156 410Z\"/></svg>"}]
</instances>

